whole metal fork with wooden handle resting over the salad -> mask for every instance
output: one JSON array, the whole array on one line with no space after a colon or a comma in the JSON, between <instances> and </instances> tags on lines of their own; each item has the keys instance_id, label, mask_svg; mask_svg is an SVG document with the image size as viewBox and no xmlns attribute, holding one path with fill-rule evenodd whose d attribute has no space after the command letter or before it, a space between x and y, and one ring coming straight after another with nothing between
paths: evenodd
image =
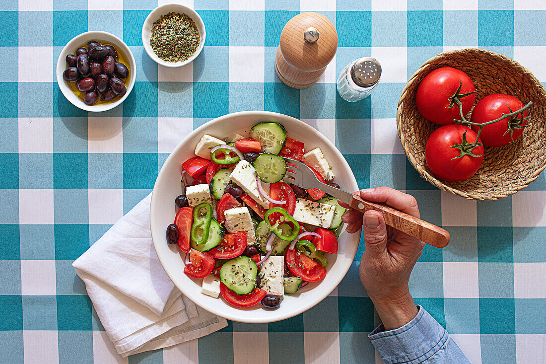
<instances>
[{"instance_id":1,"label":"whole metal fork with wooden handle resting over the salad","mask_svg":"<svg viewBox=\"0 0 546 364\"><path fill-rule=\"evenodd\" d=\"M352 209L358 210L361 213L365 213L368 210L379 211L383 214L385 224L427 244L436 246L436 248L443 248L449 243L450 237L447 230L389 206L365 201L353 193L322 183L317 179L312 169L304 165L304 163L291 158L284 158L284 160L292 165L288 166L288 171L284 175L284 179L290 183L306 190L314 188L322 190L328 193L328 195L347 203Z\"/></svg>"}]
</instances>

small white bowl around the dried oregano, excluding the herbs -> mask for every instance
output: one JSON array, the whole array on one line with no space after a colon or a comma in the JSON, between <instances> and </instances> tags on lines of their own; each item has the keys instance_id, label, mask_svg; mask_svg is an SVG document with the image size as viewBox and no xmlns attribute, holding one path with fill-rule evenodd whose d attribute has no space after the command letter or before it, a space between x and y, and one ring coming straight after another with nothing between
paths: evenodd
<instances>
[{"instance_id":1,"label":"small white bowl around the dried oregano, excluding the herbs","mask_svg":"<svg viewBox=\"0 0 546 364\"><path fill-rule=\"evenodd\" d=\"M152 36L153 23L155 23L162 15L166 15L171 12L186 14L187 16L189 16L197 26L197 30L199 32L199 46L193 56L189 57L186 61L163 61L153 52L152 46L150 45L150 37ZM182 4L159 5L157 8L153 9L150 14L148 14L142 26L142 44L144 45L146 53L150 56L150 58L152 58L152 60L165 67L181 67L193 62L193 60L197 58L201 50L203 50L203 45L205 44L205 36L205 23L203 22L203 19L201 19L201 17L199 16L199 14L197 14L195 10L193 10L192 8L188 8Z\"/></svg>"}]
</instances>

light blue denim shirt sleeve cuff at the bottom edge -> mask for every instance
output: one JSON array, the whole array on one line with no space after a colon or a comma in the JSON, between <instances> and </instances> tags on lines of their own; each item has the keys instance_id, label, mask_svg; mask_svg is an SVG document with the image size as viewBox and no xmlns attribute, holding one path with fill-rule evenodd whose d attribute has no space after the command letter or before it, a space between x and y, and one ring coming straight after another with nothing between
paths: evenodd
<instances>
[{"instance_id":1,"label":"light blue denim shirt sleeve cuff at the bottom edge","mask_svg":"<svg viewBox=\"0 0 546 364\"><path fill-rule=\"evenodd\" d=\"M368 335L385 364L470 363L446 329L423 307L417 308L419 313L406 325L384 331L381 324Z\"/></svg>"}]
</instances>

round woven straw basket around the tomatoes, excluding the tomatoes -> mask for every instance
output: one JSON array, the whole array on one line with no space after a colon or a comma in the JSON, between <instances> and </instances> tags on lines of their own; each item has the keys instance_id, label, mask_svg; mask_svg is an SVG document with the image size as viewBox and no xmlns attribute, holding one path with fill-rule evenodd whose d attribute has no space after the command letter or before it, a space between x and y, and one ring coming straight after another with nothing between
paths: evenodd
<instances>
[{"instance_id":1,"label":"round woven straw basket around the tomatoes, excluding the tomatoes","mask_svg":"<svg viewBox=\"0 0 546 364\"><path fill-rule=\"evenodd\" d=\"M454 67L466 72L478 90L476 102L491 93L506 93L533 105L527 110L523 135L515 143L485 148L483 164L473 177L448 182L437 179L425 161L425 145L440 125L417 111L415 96L420 81L432 70ZM430 58L402 90L396 110L396 126L402 148L417 172L441 190L468 199L498 199L523 190L546 167L546 90L528 69L505 55L467 48L443 52ZM469 118L467 118L469 119Z\"/></svg>"}]
</instances>

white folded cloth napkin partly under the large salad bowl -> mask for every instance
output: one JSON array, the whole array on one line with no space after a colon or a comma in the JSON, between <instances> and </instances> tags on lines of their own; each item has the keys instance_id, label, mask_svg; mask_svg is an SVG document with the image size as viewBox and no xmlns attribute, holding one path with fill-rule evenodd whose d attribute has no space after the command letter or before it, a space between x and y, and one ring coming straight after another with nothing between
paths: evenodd
<instances>
[{"instance_id":1,"label":"white folded cloth napkin partly under the large salad bowl","mask_svg":"<svg viewBox=\"0 0 546 364\"><path fill-rule=\"evenodd\" d=\"M123 357L228 325L182 296L165 273L153 248L150 200L140 201L72 264Z\"/></svg>"}]
</instances>

